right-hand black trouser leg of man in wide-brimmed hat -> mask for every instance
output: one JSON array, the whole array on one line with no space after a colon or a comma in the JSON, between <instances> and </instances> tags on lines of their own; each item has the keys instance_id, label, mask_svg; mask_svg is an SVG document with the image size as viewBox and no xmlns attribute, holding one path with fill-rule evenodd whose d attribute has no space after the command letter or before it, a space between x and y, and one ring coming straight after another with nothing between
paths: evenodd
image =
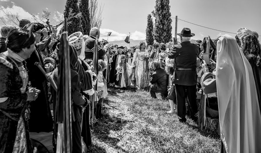
<instances>
[{"instance_id":1,"label":"right-hand black trouser leg of man in wide-brimmed hat","mask_svg":"<svg viewBox=\"0 0 261 153\"><path fill-rule=\"evenodd\" d=\"M195 114L197 113L196 85L186 86L186 90L190 108L190 116L191 119L195 119Z\"/></svg>"}]
</instances>

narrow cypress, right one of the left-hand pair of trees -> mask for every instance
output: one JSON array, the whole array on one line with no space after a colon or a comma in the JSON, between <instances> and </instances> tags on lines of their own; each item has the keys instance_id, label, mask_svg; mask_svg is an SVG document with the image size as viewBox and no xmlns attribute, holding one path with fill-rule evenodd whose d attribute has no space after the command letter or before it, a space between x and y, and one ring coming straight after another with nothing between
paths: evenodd
<instances>
[{"instance_id":1,"label":"narrow cypress, right one of the left-hand pair of trees","mask_svg":"<svg viewBox=\"0 0 261 153\"><path fill-rule=\"evenodd\" d=\"M89 13L89 0L80 0L79 8L81 12L81 26L82 33L89 35L90 33L90 13Z\"/></svg>"}]
</instances>

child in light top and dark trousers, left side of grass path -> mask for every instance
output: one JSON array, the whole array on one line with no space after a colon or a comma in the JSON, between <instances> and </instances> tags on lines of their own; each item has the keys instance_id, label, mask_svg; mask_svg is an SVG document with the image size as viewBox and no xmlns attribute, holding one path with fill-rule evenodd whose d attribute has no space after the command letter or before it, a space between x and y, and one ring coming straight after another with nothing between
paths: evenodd
<instances>
[{"instance_id":1,"label":"child in light top and dark trousers, left side of grass path","mask_svg":"<svg viewBox=\"0 0 261 153\"><path fill-rule=\"evenodd\" d=\"M102 69L99 71L99 74L98 74L97 91L103 90L103 92L102 92L102 96L100 97L100 99L97 103L97 110L96 110L96 118L97 119L102 117L102 102L104 100L104 97L108 95L107 81L105 80L105 78L103 76L103 71L106 68L106 64L102 59L99 59L98 63L99 63L100 66L102 66Z\"/></svg>"}]
</instances>

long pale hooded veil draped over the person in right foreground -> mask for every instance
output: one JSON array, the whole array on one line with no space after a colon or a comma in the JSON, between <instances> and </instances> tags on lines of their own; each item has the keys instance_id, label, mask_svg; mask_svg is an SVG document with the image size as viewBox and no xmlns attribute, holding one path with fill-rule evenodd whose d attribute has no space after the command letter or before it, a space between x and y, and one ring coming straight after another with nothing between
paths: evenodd
<instances>
[{"instance_id":1,"label":"long pale hooded veil draped over the person in right foreground","mask_svg":"<svg viewBox=\"0 0 261 153\"><path fill-rule=\"evenodd\" d=\"M234 38L224 35L219 40L216 84L226 152L261 152L261 115L251 65Z\"/></svg>"}]
</instances>

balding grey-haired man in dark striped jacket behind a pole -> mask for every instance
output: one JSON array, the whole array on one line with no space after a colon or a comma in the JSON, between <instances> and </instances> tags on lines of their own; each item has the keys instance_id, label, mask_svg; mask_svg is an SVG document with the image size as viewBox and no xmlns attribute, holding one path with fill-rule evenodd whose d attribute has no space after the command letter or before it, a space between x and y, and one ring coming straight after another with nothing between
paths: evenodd
<instances>
[{"instance_id":1,"label":"balding grey-haired man in dark striped jacket behind a pole","mask_svg":"<svg viewBox=\"0 0 261 153\"><path fill-rule=\"evenodd\" d=\"M97 27L93 27L90 30L90 36L85 40L85 59L93 60L93 52L94 52L94 44L96 41L96 36L98 35L98 39L100 37L100 30ZM98 42L98 55L99 59L104 60L104 55L108 51L108 49L112 46L112 44L108 45L107 48L103 48L102 45Z\"/></svg>"}]
</instances>

